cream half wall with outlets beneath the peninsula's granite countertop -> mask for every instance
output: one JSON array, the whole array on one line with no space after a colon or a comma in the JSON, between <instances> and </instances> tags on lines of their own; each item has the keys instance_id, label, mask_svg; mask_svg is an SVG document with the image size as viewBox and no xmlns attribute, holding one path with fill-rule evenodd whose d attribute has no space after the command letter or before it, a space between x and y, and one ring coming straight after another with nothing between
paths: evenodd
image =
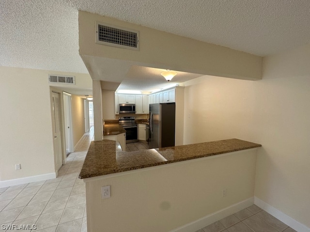
<instances>
[{"instance_id":1,"label":"cream half wall with outlets beneath the peninsula's granite countertop","mask_svg":"<svg viewBox=\"0 0 310 232\"><path fill-rule=\"evenodd\" d=\"M86 179L88 232L167 232L253 198L256 153L249 149ZM101 187L108 185L111 197L102 200Z\"/></svg>"}]
</instances>

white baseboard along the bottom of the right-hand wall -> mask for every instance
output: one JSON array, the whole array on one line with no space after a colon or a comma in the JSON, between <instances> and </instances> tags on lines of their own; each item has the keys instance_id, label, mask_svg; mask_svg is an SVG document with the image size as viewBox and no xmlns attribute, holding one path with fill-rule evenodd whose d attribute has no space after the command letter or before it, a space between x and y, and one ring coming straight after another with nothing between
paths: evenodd
<instances>
[{"instance_id":1,"label":"white baseboard along the bottom of the right-hand wall","mask_svg":"<svg viewBox=\"0 0 310 232\"><path fill-rule=\"evenodd\" d=\"M299 221L295 220L294 218L282 213L279 211L279 209L276 209L275 207L271 206L270 204L267 204L263 202L258 197L254 197L254 204L262 208L267 213L271 214L273 217L276 217L289 227L293 228L297 232L310 232L310 228L305 226L304 224L300 223Z\"/></svg>"}]
</instances>

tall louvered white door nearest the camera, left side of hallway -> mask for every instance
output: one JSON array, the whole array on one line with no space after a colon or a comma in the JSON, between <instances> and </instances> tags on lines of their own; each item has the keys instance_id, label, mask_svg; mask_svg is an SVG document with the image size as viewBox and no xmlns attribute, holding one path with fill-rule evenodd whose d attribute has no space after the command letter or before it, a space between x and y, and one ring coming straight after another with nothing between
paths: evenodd
<instances>
[{"instance_id":1,"label":"tall louvered white door nearest the camera, left side of hallway","mask_svg":"<svg viewBox=\"0 0 310 232\"><path fill-rule=\"evenodd\" d=\"M62 167L62 134L59 93L52 92L52 124L55 170Z\"/></svg>"}]
</instances>

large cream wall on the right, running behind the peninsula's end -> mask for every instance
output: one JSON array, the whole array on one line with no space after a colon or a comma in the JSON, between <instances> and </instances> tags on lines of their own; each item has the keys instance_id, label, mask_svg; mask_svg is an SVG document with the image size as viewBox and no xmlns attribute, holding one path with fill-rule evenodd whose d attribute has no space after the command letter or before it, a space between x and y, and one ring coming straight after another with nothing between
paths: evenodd
<instances>
[{"instance_id":1,"label":"large cream wall on the right, running behind the peninsula's end","mask_svg":"<svg viewBox=\"0 0 310 232\"><path fill-rule=\"evenodd\" d=\"M308 227L309 63L310 44L264 58L259 81L205 76L188 82L184 133L185 144L229 138L262 144L255 196Z\"/></svg>"}]
</instances>

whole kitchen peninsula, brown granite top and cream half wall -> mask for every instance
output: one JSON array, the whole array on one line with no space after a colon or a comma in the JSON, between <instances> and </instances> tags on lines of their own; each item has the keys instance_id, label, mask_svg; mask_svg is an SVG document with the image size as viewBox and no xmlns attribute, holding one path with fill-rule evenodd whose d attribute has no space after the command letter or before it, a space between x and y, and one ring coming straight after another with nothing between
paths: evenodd
<instances>
[{"instance_id":1,"label":"whole kitchen peninsula, brown granite top and cream half wall","mask_svg":"<svg viewBox=\"0 0 310 232\"><path fill-rule=\"evenodd\" d=\"M226 217L253 203L259 144L229 139L133 152L117 145L93 141L79 174L89 232L190 231L193 221L202 228L210 215ZM104 186L111 196L102 200Z\"/></svg>"}]
</instances>

